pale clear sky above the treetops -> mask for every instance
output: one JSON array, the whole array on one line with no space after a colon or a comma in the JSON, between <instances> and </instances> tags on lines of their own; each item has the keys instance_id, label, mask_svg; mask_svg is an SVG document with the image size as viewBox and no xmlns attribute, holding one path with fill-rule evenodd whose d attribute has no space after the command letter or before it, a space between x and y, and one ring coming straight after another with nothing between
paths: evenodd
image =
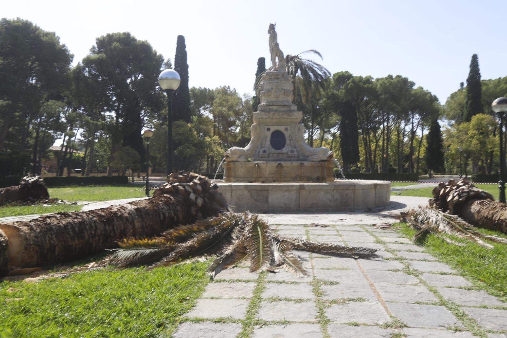
<instances>
[{"instance_id":1,"label":"pale clear sky above the treetops","mask_svg":"<svg viewBox=\"0 0 507 338\"><path fill-rule=\"evenodd\" d=\"M474 53L483 79L507 76L504 0L25 0L1 9L2 17L55 31L74 63L108 32L130 31L171 59L183 35L190 86L230 85L240 93L252 92L258 57L269 66L270 22L285 54L316 49L332 73L400 74L442 103L466 80Z\"/></svg>"}]
</instances>

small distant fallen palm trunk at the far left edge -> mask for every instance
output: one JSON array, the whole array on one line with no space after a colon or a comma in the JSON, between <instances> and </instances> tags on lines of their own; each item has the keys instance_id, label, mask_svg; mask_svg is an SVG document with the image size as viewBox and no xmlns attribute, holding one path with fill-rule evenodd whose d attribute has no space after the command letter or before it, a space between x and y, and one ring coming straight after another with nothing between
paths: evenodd
<instances>
[{"instance_id":1,"label":"small distant fallen palm trunk at the far left edge","mask_svg":"<svg viewBox=\"0 0 507 338\"><path fill-rule=\"evenodd\" d=\"M49 198L49 193L40 176L23 177L19 185L0 189L0 204L42 198Z\"/></svg>"}]
</instances>

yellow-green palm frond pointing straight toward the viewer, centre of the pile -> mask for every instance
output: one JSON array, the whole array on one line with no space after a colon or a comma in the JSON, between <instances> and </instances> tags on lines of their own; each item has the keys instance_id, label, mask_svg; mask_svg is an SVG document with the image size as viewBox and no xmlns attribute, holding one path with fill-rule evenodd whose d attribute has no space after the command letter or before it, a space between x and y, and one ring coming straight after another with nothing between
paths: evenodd
<instances>
[{"instance_id":1,"label":"yellow-green palm frond pointing straight toward the viewer, centre of the pile","mask_svg":"<svg viewBox=\"0 0 507 338\"><path fill-rule=\"evenodd\" d=\"M268 223L258 215L249 218L246 229L245 245L250 258L250 271L264 271L271 263L271 230Z\"/></svg>"}]
</instances>

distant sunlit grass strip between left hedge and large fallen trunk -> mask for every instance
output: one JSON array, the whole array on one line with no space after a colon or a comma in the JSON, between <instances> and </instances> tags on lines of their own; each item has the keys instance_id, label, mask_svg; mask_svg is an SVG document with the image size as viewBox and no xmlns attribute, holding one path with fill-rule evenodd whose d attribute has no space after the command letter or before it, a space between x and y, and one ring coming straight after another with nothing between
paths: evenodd
<instances>
[{"instance_id":1,"label":"distant sunlit grass strip between left hedge and large fallen trunk","mask_svg":"<svg viewBox=\"0 0 507 338\"><path fill-rule=\"evenodd\" d=\"M112 200L123 198L144 197L144 187L140 185L112 186L66 186L48 188L51 198L78 200Z\"/></svg>"}]
</instances>

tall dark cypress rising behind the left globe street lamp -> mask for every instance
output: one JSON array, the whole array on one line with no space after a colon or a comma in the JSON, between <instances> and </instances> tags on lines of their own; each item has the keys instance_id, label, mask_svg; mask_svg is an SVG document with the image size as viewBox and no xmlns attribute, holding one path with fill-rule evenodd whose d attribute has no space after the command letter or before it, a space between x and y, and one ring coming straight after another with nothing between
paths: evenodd
<instances>
[{"instance_id":1,"label":"tall dark cypress rising behind the left globe street lamp","mask_svg":"<svg viewBox=\"0 0 507 338\"><path fill-rule=\"evenodd\" d=\"M185 46L185 37L178 35L176 42L176 55L174 56L174 70L178 72L182 82L174 92L172 101L172 120L183 120L187 123L191 121L190 110L190 90L189 90L189 65L187 63L187 49Z\"/></svg>"}]
</instances>

